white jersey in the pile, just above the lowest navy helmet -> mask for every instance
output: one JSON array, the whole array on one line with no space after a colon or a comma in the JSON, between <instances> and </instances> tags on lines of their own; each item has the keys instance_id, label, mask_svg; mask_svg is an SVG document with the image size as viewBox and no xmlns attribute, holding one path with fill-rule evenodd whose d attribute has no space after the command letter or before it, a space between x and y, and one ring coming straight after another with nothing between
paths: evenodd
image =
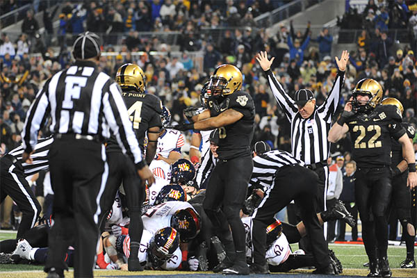
<instances>
[{"instance_id":1,"label":"white jersey in the pile, just above the lowest navy helmet","mask_svg":"<svg viewBox=\"0 0 417 278\"><path fill-rule=\"evenodd\" d=\"M158 229L171 227L171 217L180 209L193 208L188 202L170 201L148 208L142 215L143 229L155 234ZM194 209L194 208L193 208Z\"/></svg>"}]
</instances>

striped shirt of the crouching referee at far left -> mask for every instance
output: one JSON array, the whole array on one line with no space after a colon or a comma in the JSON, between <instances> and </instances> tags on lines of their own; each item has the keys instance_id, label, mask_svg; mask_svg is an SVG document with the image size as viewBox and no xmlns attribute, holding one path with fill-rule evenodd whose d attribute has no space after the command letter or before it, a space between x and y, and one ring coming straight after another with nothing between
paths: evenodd
<instances>
[{"instance_id":1,"label":"striped shirt of the crouching referee at far left","mask_svg":"<svg viewBox=\"0 0 417 278\"><path fill-rule=\"evenodd\" d=\"M34 152L31 154L31 158L33 159L33 163L31 164L22 161L22 154L24 152L23 145L12 149L8 154L16 158L17 161L22 161L25 176L30 176L31 174L36 174L49 168L48 153L52 142L54 142L54 138L52 137L38 140L38 143L33 149Z\"/></svg>"}]
</instances>

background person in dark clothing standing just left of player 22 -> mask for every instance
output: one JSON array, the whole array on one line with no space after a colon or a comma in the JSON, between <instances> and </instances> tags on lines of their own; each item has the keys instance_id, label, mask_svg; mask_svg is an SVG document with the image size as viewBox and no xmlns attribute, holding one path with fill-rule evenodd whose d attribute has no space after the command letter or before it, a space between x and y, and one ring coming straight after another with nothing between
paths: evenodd
<instances>
[{"instance_id":1,"label":"background person in dark clothing standing just left of player 22","mask_svg":"<svg viewBox=\"0 0 417 278\"><path fill-rule=\"evenodd\" d=\"M355 222L357 222L358 218L358 209L354 199L354 172L356 171L356 163L354 161L350 161L346 163L346 172L343 175L343 190L339 197L339 199L345 204L347 211L349 211L353 217ZM344 221L339 222L339 229L338 229L338 241L345 241L345 230L346 230L346 223ZM357 226L352 227L352 241L358 240L358 228Z\"/></svg>"}]
</instances>

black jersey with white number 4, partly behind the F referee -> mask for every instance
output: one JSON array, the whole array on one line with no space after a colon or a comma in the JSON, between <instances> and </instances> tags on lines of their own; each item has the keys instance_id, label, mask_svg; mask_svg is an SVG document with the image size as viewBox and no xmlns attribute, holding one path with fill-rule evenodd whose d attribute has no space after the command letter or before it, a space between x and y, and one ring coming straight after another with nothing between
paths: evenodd
<instances>
[{"instance_id":1,"label":"black jersey with white number 4, partly behind the F referee","mask_svg":"<svg viewBox=\"0 0 417 278\"><path fill-rule=\"evenodd\" d=\"M156 95L150 95L140 92L122 92L124 104L126 104L129 119L133 123L133 131L140 145L144 149L146 131L154 126L162 126L162 102ZM120 150L114 136L108 140L107 150Z\"/></svg>"}]
</instances>

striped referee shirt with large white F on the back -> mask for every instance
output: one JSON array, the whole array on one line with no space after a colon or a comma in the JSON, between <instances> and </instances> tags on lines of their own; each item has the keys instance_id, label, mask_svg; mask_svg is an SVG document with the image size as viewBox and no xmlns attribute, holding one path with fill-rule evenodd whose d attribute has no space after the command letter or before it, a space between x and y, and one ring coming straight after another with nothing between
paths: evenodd
<instances>
[{"instance_id":1,"label":"striped referee shirt with large white F on the back","mask_svg":"<svg viewBox=\"0 0 417 278\"><path fill-rule=\"evenodd\" d=\"M55 134L109 138L109 126L122 151L140 163L142 154L121 92L94 62L77 60L54 74L36 95L22 131L23 148L32 152L39 129L51 116L50 131Z\"/></svg>"}]
</instances>

